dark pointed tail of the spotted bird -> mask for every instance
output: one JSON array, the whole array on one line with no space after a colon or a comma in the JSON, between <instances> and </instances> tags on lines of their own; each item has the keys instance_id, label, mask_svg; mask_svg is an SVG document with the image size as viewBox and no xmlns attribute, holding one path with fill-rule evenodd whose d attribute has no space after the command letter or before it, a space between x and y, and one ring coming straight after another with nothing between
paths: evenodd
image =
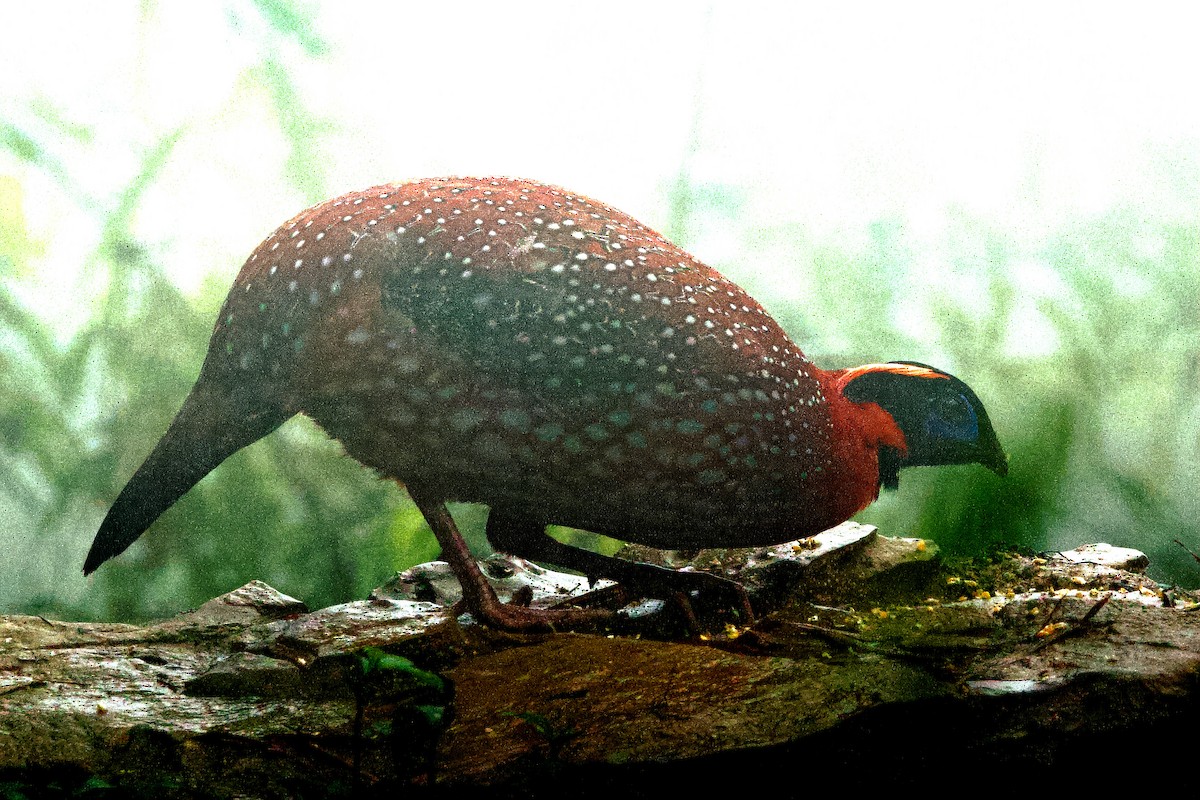
<instances>
[{"instance_id":1,"label":"dark pointed tail of the spotted bird","mask_svg":"<svg viewBox=\"0 0 1200 800\"><path fill-rule=\"evenodd\" d=\"M203 379L202 379L203 380ZM290 413L198 383L154 451L108 510L83 573L125 552L163 511L226 458L280 427Z\"/></svg>"}]
</instances>

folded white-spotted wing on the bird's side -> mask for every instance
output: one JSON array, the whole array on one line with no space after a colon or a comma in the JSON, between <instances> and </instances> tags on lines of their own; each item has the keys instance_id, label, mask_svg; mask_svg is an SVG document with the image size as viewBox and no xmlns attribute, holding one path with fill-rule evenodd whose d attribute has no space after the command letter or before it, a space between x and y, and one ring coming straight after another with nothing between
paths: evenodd
<instances>
[{"instance_id":1,"label":"folded white-spotted wing on the bird's side","mask_svg":"<svg viewBox=\"0 0 1200 800\"><path fill-rule=\"evenodd\" d=\"M382 276L383 308L479 375L557 404L596 393L764 399L763 353L791 345L774 320L656 234L593 217L530 213L491 237L486 223L452 218L419 228L419 243L409 227Z\"/></svg>"}]
</instances>

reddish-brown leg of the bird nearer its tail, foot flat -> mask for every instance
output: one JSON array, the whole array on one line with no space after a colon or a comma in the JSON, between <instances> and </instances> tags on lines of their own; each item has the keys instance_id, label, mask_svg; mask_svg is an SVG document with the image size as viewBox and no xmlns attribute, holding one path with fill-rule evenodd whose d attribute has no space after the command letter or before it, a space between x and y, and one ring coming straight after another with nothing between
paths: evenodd
<instances>
[{"instance_id":1,"label":"reddish-brown leg of the bird nearer its tail, foot flat","mask_svg":"<svg viewBox=\"0 0 1200 800\"><path fill-rule=\"evenodd\" d=\"M442 546L442 558L462 587L462 600L480 622L509 631L545 631L556 627L595 626L611 619L612 613L598 609L536 609L500 602L492 584L467 548L458 527L439 498L408 485L408 494Z\"/></svg>"}]
</instances>

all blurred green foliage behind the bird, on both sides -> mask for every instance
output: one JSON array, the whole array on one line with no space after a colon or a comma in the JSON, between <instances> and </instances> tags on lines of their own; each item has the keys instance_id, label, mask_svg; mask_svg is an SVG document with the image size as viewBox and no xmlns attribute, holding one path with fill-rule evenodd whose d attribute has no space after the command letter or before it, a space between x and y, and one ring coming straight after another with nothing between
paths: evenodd
<instances>
[{"instance_id":1,"label":"all blurred green foliage behind the bird, on both sides","mask_svg":"<svg viewBox=\"0 0 1200 800\"><path fill-rule=\"evenodd\" d=\"M292 188L316 201L326 194L316 145L326 124L306 113L280 52L290 43L320 58L328 46L289 4L256 7L271 42L245 80L266 88ZM46 104L26 110L32 122L0 121L0 148L95 217L88 266L102 290L80 297L86 317L59 342L22 300L44 242L29 233L22 184L0 176L0 536L22 558L5 573L0 608L136 620L251 578L319 607L362 597L392 570L434 558L403 493L296 419L202 481L85 593L60 590L79 581L108 503L194 380L224 287L190 301L134 234L134 215L190 136L186 126L146 146L115 197L94 198L54 146L86 150L94 131ZM880 221L860 247L834 247L799 222L748 229L751 196L695 184L682 169L665 191L667 231L685 246L704 230L738 231L737 260L715 266L763 300L815 361L947 368L984 398L1009 452L1007 480L979 468L907 470L901 489L862 519L962 553L1108 541L1146 551L1160 579L1200 584L1198 565L1174 542L1200 549L1200 225L1117 209L1031 246L952 213L937 264L953 282L940 282L922 260L928 248L900 221ZM784 269L755 270L761 263ZM780 273L794 284L786 300L768 282ZM1050 288L1034 291L1031 281ZM1030 320L1049 332L1044 347L1028 347ZM922 329L931 332L914 333ZM485 513L455 507L479 549Z\"/></svg>"}]
</instances>

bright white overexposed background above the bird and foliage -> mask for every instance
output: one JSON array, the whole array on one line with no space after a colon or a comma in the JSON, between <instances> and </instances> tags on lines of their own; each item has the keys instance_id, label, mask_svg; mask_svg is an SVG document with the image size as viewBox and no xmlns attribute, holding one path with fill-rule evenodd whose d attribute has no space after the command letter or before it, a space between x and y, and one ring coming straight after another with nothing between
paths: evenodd
<instances>
[{"instance_id":1,"label":"bright white overexposed background above the bird and foliage","mask_svg":"<svg viewBox=\"0 0 1200 800\"><path fill-rule=\"evenodd\" d=\"M1118 205L1159 217L1200 207L1200 58L1186 4L302 7L331 52L278 58L329 122L314 136L330 194L510 174L660 225L683 167L746 188L744 225L798 222L847 245L880 218L937 242L949 209L1036 239ZM245 76L266 38L252 5L12 4L5 18L2 113L53 101L94 126L91 146L60 155L101 206L146 148L188 126L137 223L185 288L232 277L306 204L284 188L284 143ZM86 288L72 281L100 221L46 181L26 191L48 242L28 291L70 330ZM738 260L726 233L688 243L725 266ZM936 248L931 258L936 271Z\"/></svg>"}]
</instances>

